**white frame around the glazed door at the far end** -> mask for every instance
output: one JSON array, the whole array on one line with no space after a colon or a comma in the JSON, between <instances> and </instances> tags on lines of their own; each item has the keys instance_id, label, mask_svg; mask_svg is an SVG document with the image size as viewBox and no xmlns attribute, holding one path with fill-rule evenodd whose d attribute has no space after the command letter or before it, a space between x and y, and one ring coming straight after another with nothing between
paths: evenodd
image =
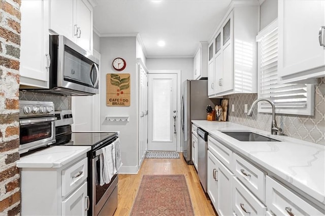
<instances>
[{"instance_id":1,"label":"white frame around the glazed door at the far end","mask_svg":"<svg viewBox=\"0 0 325 216\"><path fill-rule=\"evenodd\" d=\"M177 74L177 152L181 152L181 136L180 136L180 132L181 132L180 104L181 104L181 85L182 85L181 70L148 70L148 74Z\"/></svg>"}]
</instances>

